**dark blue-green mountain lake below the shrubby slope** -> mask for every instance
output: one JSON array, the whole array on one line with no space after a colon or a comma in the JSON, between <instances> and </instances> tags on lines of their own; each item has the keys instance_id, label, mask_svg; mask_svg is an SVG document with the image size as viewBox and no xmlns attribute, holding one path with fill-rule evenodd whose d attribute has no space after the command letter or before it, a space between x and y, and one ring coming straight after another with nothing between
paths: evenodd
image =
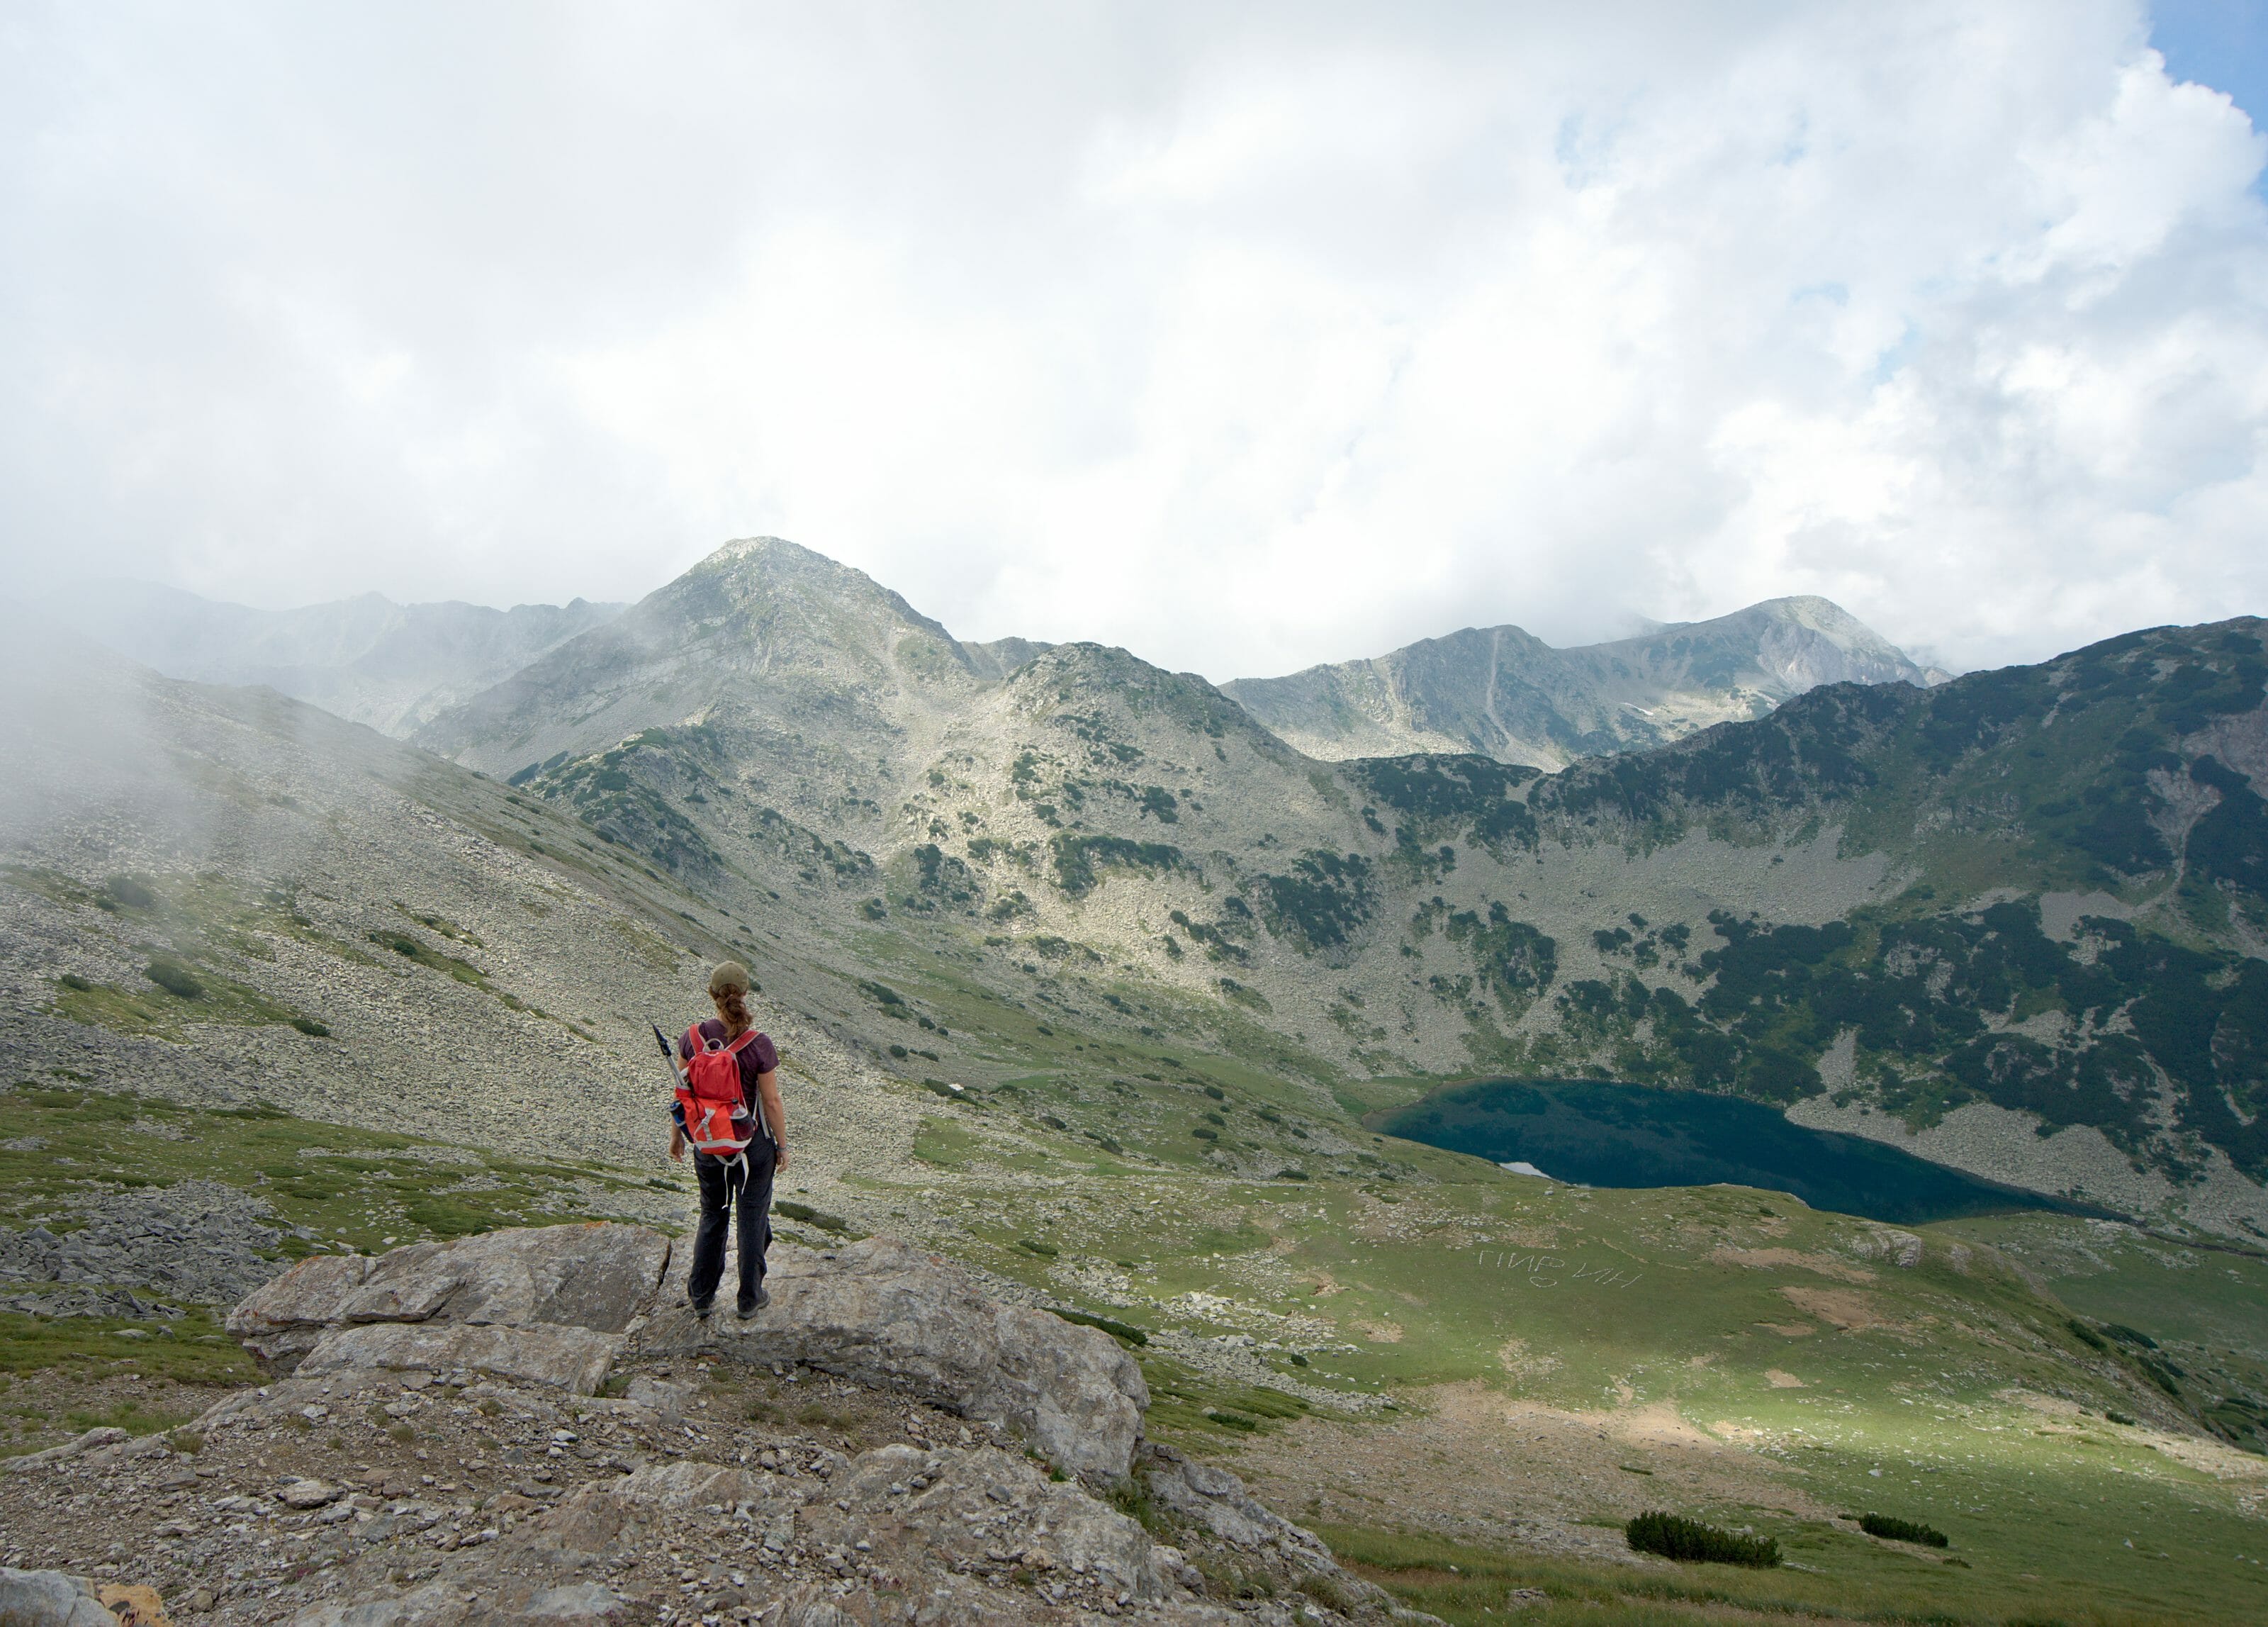
<instances>
[{"instance_id":1,"label":"dark blue-green mountain lake below the shrubby slope","mask_svg":"<svg viewBox=\"0 0 2268 1627\"><path fill-rule=\"evenodd\" d=\"M1789 1191L1814 1209L1871 1221L1953 1221L1969 1214L2107 1214L2000 1187L1894 1146L1805 1130L1733 1096L1599 1080L1479 1080L1408 1107L1370 1114L1379 1135L1529 1164L1583 1187L1706 1187Z\"/></svg>"}]
</instances>

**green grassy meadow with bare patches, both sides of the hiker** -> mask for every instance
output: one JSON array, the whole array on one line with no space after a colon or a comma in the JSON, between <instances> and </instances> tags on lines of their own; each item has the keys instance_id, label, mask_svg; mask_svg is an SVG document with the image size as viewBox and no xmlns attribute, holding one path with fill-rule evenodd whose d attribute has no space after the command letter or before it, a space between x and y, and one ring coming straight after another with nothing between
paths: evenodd
<instances>
[{"instance_id":1,"label":"green grassy meadow with bare patches, both sides of the hiker","mask_svg":"<svg viewBox=\"0 0 2268 1627\"><path fill-rule=\"evenodd\" d=\"M1157 1439L1452 1622L2268 1613L2268 1459L2195 1423L2268 1366L2268 1262L2066 1216L1901 1230L1744 1187L1576 1189L1372 1137L1347 1116L1370 1101L1170 1044L962 1096L907 1080L932 1105L914 1164L848 1173L848 1221L810 1223L923 1237L1105 1325ZM188 1178L263 1198L279 1257L685 1198L274 1107L0 1091L0 1223ZM9 1430L25 1450L79 1418L172 1423L254 1368L209 1312L0 1314L0 1414L39 1414ZM50 1380L68 1393L43 1402ZM1787 1563L1635 1559L1619 1525L1656 1507L1774 1536ZM1864 1536L1860 1514L1950 1545Z\"/></svg>"}]
</instances>

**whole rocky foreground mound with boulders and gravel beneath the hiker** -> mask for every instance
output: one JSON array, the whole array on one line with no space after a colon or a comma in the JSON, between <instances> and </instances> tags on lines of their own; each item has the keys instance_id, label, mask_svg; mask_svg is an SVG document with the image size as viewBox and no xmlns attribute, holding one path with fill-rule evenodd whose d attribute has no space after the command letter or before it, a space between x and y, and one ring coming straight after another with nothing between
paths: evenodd
<instances>
[{"instance_id":1,"label":"whole rocky foreground mound with boulders and gravel beneath the hiker","mask_svg":"<svg viewBox=\"0 0 2268 1627\"><path fill-rule=\"evenodd\" d=\"M188 1618L295 1627L1402 1613L1234 1475L1132 1430L1100 1432L1102 1486L1050 1466L1050 1445L1093 1452L1098 1434L1059 1421L1136 1402L1139 1430L1141 1380L1105 1334L989 1305L937 1262L923 1289L921 1262L882 1241L782 1248L762 1318L705 1327L667 1305L667 1253L637 1228L549 1228L302 1262L231 1314L261 1348L297 1348L288 1377L170 1436L98 1430L5 1464L0 1557L54 1577L5 1586L52 1595L34 1622L77 1620L93 1586L75 1573L156 1582ZM882 1321L841 1339L794 1325L826 1303ZM420 1321L354 1321L383 1316ZM610 1393L483 1339L596 1332L544 1316L621 1330ZM973 1323L993 1330L968 1352L987 1359L955 1362ZM376 1327L438 1337L349 1362ZM991 1362L1052 1400L1000 1416L1016 1407ZM1098 1495L1111 1486L1123 1507ZM104 1518L84 1520L98 1500Z\"/></svg>"}]
</instances>

